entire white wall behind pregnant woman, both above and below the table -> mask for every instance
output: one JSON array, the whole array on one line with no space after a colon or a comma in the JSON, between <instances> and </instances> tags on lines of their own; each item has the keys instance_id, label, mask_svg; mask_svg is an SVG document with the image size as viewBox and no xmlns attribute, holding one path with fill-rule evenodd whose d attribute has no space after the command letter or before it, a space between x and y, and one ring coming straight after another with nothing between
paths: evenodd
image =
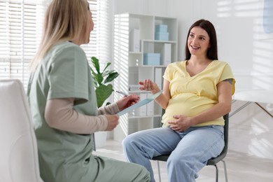
<instances>
[{"instance_id":1,"label":"entire white wall behind pregnant woman, both above and below the table","mask_svg":"<svg viewBox=\"0 0 273 182\"><path fill-rule=\"evenodd\" d=\"M210 20L218 34L219 59L232 67L237 91L273 90L273 34L262 30L263 0L114 0L113 4L115 14L178 18L179 59L184 57L190 25L200 18ZM241 104L236 102L232 110ZM230 118L230 149L273 159L272 129L272 118L251 104Z\"/></svg>"}]
</instances>

